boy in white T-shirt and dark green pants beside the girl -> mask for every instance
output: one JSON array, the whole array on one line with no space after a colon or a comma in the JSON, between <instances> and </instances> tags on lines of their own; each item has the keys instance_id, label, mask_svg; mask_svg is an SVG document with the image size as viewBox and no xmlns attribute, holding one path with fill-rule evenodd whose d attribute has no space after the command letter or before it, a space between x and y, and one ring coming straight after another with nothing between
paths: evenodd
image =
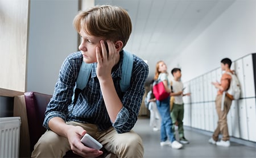
<instances>
[{"instance_id":1,"label":"boy in white T-shirt and dark green pants beside the girl","mask_svg":"<svg viewBox=\"0 0 256 158\"><path fill-rule=\"evenodd\" d=\"M179 68L174 68L171 70L174 80L172 80L172 93L171 96L174 96L174 105L171 110L171 118L173 126L178 127L180 143L188 144L188 140L184 136L183 128L183 118L184 118L184 103L183 96L190 95L190 93L183 94L183 83L181 82L181 70ZM173 127L173 128L174 128Z\"/></svg>"}]
</instances>

